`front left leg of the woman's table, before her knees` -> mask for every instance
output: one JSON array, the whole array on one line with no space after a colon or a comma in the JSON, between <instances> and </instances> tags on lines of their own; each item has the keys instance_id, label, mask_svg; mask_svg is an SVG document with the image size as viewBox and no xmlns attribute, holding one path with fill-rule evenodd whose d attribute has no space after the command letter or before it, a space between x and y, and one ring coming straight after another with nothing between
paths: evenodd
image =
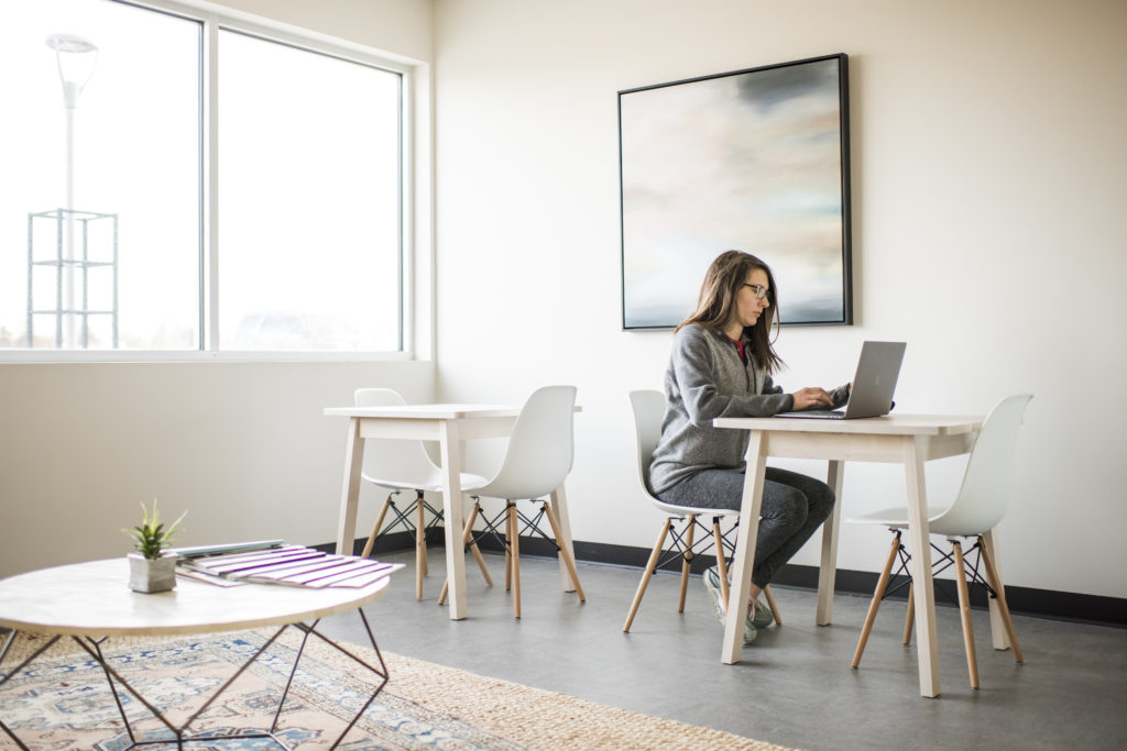
<instances>
[{"instance_id":1,"label":"front left leg of the woman's table, before her knees","mask_svg":"<svg viewBox=\"0 0 1127 751\"><path fill-rule=\"evenodd\" d=\"M767 466L764 444L764 435L753 430L747 446L744 498L739 506L739 535L736 539L731 588L728 592L727 618L724 624L724 645L720 650L720 661L727 664L739 662L744 649L744 620L747 618L747 597L752 591L755 538L760 533L763 480Z\"/></svg>"}]
</instances>

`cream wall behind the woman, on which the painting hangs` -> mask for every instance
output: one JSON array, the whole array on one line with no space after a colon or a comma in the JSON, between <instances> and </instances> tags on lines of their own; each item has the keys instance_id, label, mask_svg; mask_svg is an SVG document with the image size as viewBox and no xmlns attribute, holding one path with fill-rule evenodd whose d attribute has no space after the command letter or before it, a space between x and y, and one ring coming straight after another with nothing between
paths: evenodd
<instances>
[{"instance_id":1,"label":"cream wall behind the woman, on which the painting hangs","mask_svg":"<svg viewBox=\"0 0 1127 751\"><path fill-rule=\"evenodd\" d=\"M577 539L649 546L658 524L636 488L625 393L660 387L671 334L620 330L616 91L845 52L857 325L784 330L782 383L844 382L862 340L895 338L909 342L904 412L1035 393L1001 531L1008 580L1127 596L1127 5L435 7L440 395L579 387ZM960 470L929 471L933 500ZM903 498L895 468L846 468L846 513ZM879 570L886 545L846 527L840 565ZM796 562L815 564L813 548Z\"/></svg>"}]
</instances>

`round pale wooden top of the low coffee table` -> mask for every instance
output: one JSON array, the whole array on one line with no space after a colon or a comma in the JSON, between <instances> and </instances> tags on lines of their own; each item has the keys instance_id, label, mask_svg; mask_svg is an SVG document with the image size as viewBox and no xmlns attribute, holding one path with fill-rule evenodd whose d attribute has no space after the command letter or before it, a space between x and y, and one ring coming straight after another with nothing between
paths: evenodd
<instances>
[{"instance_id":1,"label":"round pale wooden top of the low coffee table","mask_svg":"<svg viewBox=\"0 0 1127 751\"><path fill-rule=\"evenodd\" d=\"M0 579L0 626L76 636L202 634L312 620L382 597L390 579L367 587L310 589L276 584L216 587L178 576L176 589L141 594L128 561L74 563Z\"/></svg>"}]
</instances>

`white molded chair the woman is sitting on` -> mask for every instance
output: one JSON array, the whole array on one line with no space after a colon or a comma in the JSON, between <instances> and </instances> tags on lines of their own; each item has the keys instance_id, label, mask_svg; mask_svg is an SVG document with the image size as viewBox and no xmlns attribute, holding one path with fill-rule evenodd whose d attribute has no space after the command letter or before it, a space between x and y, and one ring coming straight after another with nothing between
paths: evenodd
<instances>
[{"instance_id":1,"label":"white molded chair the woman is sitting on","mask_svg":"<svg viewBox=\"0 0 1127 751\"><path fill-rule=\"evenodd\" d=\"M649 484L649 463L654 457L654 449L657 448L657 441L662 437L662 419L665 415L665 394L659 391L632 391L630 392L630 405L633 408L635 435L638 439L638 480L646 492L646 498L666 516L665 524L662 526L662 533L657 537L657 544L654 545L654 551L649 554L649 562L646 564L646 571L641 575L641 582L638 584L638 591L630 606L630 613L627 615L627 622L622 626L623 632L630 631L630 625L633 623L638 607L641 605L641 598L646 594L650 576L654 575L658 566L668 563L675 557L681 558L681 599L677 604L677 613L684 613L685 591L689 588L689 570L692 566L693 557L699 553L708 551L709 547L717 553L716 563L720 573L720 596L727 602L728 564L726 558L728 555L734 554L736 549L736 542L734 539L736 527L733 526L728 531L721 533L720 520L726 517L734 518L736 521L739 520L739 511L673 506L654 495L654 491ZM711 517L711 539L704 537L702 540L693 542L694 531L698 527L704 530L706 535L709 533L709 527L699 521L698 517ZM673 544L666 551L665 538L671 534L673 536ZM781 625L782 618L779 617L779 608L775 607L771 588L766 587L763 593L766 597L775 623Z\"/></svg>"}]
</instances>

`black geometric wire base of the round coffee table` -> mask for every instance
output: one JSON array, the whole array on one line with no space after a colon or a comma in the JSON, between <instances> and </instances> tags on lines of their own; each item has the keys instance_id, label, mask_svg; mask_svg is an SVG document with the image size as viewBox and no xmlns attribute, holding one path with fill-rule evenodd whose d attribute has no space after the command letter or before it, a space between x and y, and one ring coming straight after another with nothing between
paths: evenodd
<instances>
[{"instance_id":1,"label":"black geometric wire base of the round coffee table","mask_svg":"<svg viewBox=\"0 0 1127 751\"><path fill-rule=\"evenodd\" d=\"M153 745L166 745L167 746L167 745L170 745L170 744L174 744L174 743L176 744L176 748L178 750L180 750L180 749L184 748L184 744L188 743L188 742L195 742L195 741L207 741L207 742L212 742L212 741L234 741L234 740L247 740L247 739L255 739L255 737L269 739L269 741L272 743L276 744L279 749L283 749L284 751L292 751L290 749L290 746L287 746L285 743L283 743L282 740L278 739L274 733L277 730L278 717L282 715L282 708L285 706L286 697L290 695L290 687L293 685L293 677L298 672L298 663L301 662L301 655L305 651L305 643L309 641L310 636L317 636L318 638L320 638L322 642L325 642L329 646L334 647L335 650L337 650L338 652L343 653L344 655L350 658L354 662L358 662L360 664L364 665L365 668L367 668L369 670L371 670L373 673L375 673L376 676L379 676L380 678L383 679L383 680L380 681L380 685L375 687L375 690L372 692L372 696L370 696L367 698L367 701L364 703L364 706L362 706L360 708L360 710L352 718L352 721L347 724L347 726L345 726L344 731L340 733L340 736L337 737L337 740L332 743L331 746L329 746L330 749L335 749L335 748L337 748L340 744L340 742L345 739L345 735L348 734L348 731L350 731L353 728L353 725L356 724L356 722L361 718L361 716L372 705L372 701L375 700L375 697L380 694L380 691L383 690L383 687L388 683L388 667L383 662L383 655L380 653L380 647L376 646L376 644L375 644L375 637L372 635L372 627L369 625L367 618L364 616L364 609L363 608L356 608L356 613L360 614L361 620L364 624L364 629L365 629L365 632L367 632L369 642L371 642L372 649L375 651L375 656L376 656L376 659L380 662L380 667L379 668L370 665L364 660L361 660L360 658L357 658L355 654L353 654L348 650L344 649L343 646L340 646L339 644L337 644L332 640L328 638L327 636L325 636L323 634L321 634L320 632L318 632L317 631L317 625L319 623L321 623L320 618L318 618L317 620L314 620L311 626L307 626L305 624L302 624L302 623L287 624L287 625L282 626L281 628L278 628L274 633L274 635L270 636L266 641L266 643L263 644L252 655L250 655L250 658L242 665L240 665L238 670L236 670L234 674L231 676L222 686L220 686L215 690L215 692L212 694L211 698L208 698L207 701L205 701L204 705L202 707L199 707L199 709L197 709L190 717L188 717L188 719L183 725L180 725L179 727L176 727L175 725L172 725L168 721L168 718L165 717L165 715L159 709L157 709L157 707L152 706L143 696L141 696L136 691L136 689L134 689L132 686L130 686L130 683L124 678L122 678L121 674L117 673L117 671L115 671L113 668L109 667L109 664L106 662L105 658L101 654L101 643L104 641L106 641L105 637L99 638L99 640L95 640L95 638L91 638L89 636L82 636L82 637L80 637L80 636L71 636L71 638L74 640L74 643L78 644L80 647L82 647L87 652L87 654L89 654L95 660L95 662L98 663L98 665L101 668L101 670L106 673L106 681L109 683L109 690L113 694L114 703L117 705L117 710L118 710L118 713L122 716L122 721L125 723L125 730L130 734L130 741L132 741L132 744L128 746L128 749L126 751L132 750L132 749L137 749L137 748L144 748L144 746L153 746ZM282 691L282 698L278 700L277 710L274 713L274 721L270 723L269 730L266 730L266 731L248 731L246 733L236 733L236 734L230 734L230 735L211 735L211 734L203 734L203 735L195 735L195 736L187 735L186 732L187 732L188 727L192 725L192 723L194 723L196 721L196 718L199 717L199 715L202 715L204 712L206 712L207 708L223 694L223 691L225 691L228 689L228 687L231 686L231 683L233 683L234 680L237 678L239 678L239 676L241 676L247 670L247 668L249 668L251 665L251 663L254 663L254 661L257 660L259 658L259 655L261 655L267 650L267 647L269 647L269 645L273 644L274 641L277 640L277 637L281 636L285 632L286 628L290 628L290 627L293 627L293 628L296 628L296 629L303 632L304 636L302 636L301 646L298 647L298 654L294 655L293 667L290 669L290 677L286 680L285 689ZM8 635L8 640L5 642L3 649L0 650L0 664L3 664L3 659L5 659L5 656L7 656L8 650L11 647L12 642L16 640L16 634L17 634L17 632L15 632L15 631L11 632ZM30 664L41 654L43 654L44 652L46 652L51 647L51 645L53 645L60 638L62 638L62 635L53 636L46 644L44 644L43 646L41 646L30 656L28 656L26 660L24 660L24 662L19 663L16 667L15 670L12 670L7 676L5 676L2 679L0 679L0 686L3 686L5 683L7 683L8 680L10 680L12 677L15 677L16 674L18 674L21 670L24 670L24 668L26 668L28 664ZM151 712L154 717L157 717L161 723L163 723L163 725L169 731L172 732L172 736L171 737L162 737L162 739L152 739L152 740L137 740L136 736L133 734L133 727L130 725L128 718L125 716L125 708L122 705L121 695L118 694L118 688L117 688L117 686L114 682L115 680L117 681L118 685L121 685L122 688L124 688L125 690L127 690L141 704L143 704L145 706L145 708L149 709L149 712ZM16 736L16 733L12 732L12 730L9 728L7 725L3 724L2 719L0 719L0 730L2 730L5 733L7 733L8 736L11 737L11 740L14 740L16 742L16 745L18 745L20 749L23 749L24 751L30 751L30 749L28 749L28 746L25 745L24 742L20 741L19 737Z\"/></svg>"}]
</instances>

